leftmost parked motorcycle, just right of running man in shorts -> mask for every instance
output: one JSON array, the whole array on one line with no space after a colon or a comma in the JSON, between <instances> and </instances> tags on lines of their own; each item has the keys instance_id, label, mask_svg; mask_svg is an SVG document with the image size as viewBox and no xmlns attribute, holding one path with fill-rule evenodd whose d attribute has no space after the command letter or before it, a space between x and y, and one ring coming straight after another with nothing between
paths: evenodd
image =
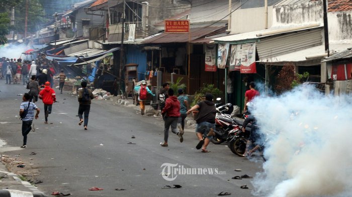
<instances>
[{"instance_id":1,"label":"leftmost parked motorcycle, just right of running man in shorts","mask_svg":"<svg viewBox=\"0 0 352 197\"><path fill-rule=\"evenodd\" d=\"M217 113L215 116L215 135L210 139L210 141L214 144L221 144L222 142L226 141L228 133L238 126L230 115L232 112L231 109L233 110L231 103L227 103L216 108Z\"/></svg>"}]
</instances>

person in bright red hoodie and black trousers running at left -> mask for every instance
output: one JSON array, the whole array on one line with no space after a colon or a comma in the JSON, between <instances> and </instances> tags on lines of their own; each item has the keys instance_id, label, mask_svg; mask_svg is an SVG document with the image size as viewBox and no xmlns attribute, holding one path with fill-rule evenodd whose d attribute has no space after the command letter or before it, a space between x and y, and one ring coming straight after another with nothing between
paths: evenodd
<instances>
[{"instance_id":1,"label":"person in bright red hoodie and black trousers running at left","mask_svg":"<svg viewBox=\"0 0 352 197\"><path fill-rule=\"evenodd\" d=\"M43 100L44 103L44 114L45 114L45 124L48 123L48 116L51 114L51 107L54 102L56 102L55 91L50 88L50 82L45 82L45 87L39 93L39 98Z\"/></svg>"}]
</instances>

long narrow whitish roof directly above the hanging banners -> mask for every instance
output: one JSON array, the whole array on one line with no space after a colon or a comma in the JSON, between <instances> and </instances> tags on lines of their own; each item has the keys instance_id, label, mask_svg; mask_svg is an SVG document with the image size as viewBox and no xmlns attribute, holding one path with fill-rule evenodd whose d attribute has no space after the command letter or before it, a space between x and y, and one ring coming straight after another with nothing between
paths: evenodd
<instances>
[{"instance_id":1,"label":"long narrow whitish roof directly above the hanging banners","mask_svg":"<svg viewBox=\"0 0 352 197\"><path fill-rule=\"evenodd\" d=\"M311 29L316 29L316 28L321 28L320 26L316 27L311 27L311 28L306 28L308 26L301 27L302 29L297 29L297 28L289 28L289 29L267 29L267 30L259 30L255 32L247 32L243 34L235 34L235 35L229 35L229 36L224 36L220 38L213 39L216 42L236 42L236 41L245 41L245 40L255 40L255 39L260 39L260 38L265 38L265 37L270 37L274 35L280 35L280 34L286 34L289 32L299 32L299 31L304 31L304 30L311 30ZM280 33L277 33L276 31L283 31ZM265 36L256 36L256 35L265 35Z\"/></svg>"}]
</instances>

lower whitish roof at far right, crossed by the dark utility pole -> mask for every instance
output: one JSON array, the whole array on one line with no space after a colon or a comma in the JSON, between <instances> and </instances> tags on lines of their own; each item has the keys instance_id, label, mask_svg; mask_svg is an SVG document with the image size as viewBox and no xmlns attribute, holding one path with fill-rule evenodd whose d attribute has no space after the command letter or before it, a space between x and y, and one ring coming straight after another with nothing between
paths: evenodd
<instances>
[{"instance_id":1,"label":"lower whitish roof at far right, crossed by the dark utility pole","mask_svg":"<svg viewBox=\"0 0 352 197\"><path fill-rule=\"evenodd\" d=\"M347 49L348 47L352 47L352 44L336 44L336 45L329 45L330 51L343 51ZM325 46L324 45L319 45L315 47L311 47L308 49L284 54L284 55L279 55L275 57L270 57L270 58L263 58L259 59L259 63L263 64L271 64L271 65L283 65L284 63L288 62L307 62L311 60L307 60L306 57L308 56L315 56L315 55L321 55L325 53ZM321 58L317 58L320 60ZM320 62L320 61L319 61Z\"/></svg>"}]
</instances>

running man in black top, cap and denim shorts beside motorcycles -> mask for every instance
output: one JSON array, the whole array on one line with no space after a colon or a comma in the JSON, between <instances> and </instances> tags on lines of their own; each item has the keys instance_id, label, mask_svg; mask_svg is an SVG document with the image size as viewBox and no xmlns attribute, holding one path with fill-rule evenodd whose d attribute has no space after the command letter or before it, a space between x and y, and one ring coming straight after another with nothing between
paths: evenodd
<instances>
[{"instance_id":1,"label":"running man in black top, cap and denim shorts beside motorcycles","mask_svg":"<svg viewBox=\"0 0 352 197\"><path fill-rule=\"evenodd\" d=\"M199 110L198 118L196 119L196 134L199 139L199 143L197 144L196 148L202 148L202 152L210 152L207 150L207 146L210 142L210 138L213 137L216 115L216 107L213 102L213 95L207 93L205 95L205 100L193 106L190 110L187 111L187 114L190 114L193 110L196 109ZM203 139L204 137L205 139Z\"/></svg>"}]
</instances>

